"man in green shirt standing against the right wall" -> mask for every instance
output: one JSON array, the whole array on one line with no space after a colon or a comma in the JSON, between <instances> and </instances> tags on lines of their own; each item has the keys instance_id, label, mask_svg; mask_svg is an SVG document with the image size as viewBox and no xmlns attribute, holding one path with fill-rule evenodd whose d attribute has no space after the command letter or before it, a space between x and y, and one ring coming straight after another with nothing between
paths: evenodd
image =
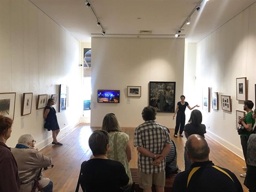
<instances>
[{"instance_id":1,"label":"man in green shirt standing against the right wall","mask_svg":"<svg viewBox=\"0 0 256 192\"><path fill-rule=\"evenodd\" d=\"M247 160L247 141L250 137L250 134L252 134L252 127L255 123L255 119L252 118L253 106L254 104L251 100L244 101L244 110L246 111L247 114L245 117L241 117L238 121L238 123L241 124L245 129L244 132L240 135L245 163L247 162L246 161ZM243 167L243 170L244 171L247 170L247 163L246 163L246 167ZM240 177L245 178L245 176L246 176L246 173L240 174Z\"/></svg>"}]
</instances>

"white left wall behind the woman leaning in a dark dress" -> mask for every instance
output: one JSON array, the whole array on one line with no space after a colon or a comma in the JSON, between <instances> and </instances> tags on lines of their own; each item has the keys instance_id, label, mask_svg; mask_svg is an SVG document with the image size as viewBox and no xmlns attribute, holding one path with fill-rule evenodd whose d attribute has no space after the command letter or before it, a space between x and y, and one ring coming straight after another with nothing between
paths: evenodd
<instances>
[{"instance_id":1,"label":"white left wall behind the woman leaning in a dark dress","mask_svg":"<svg viewBox=\"0 0 256 192\"><path fill-rule=\"evenodd\" d=\"M78 75L83 69L78 63L79 42L34 4L0 1L0 93L16 92L8 146L14 147L26 133L33 134L38 148L52 141L51 132L43 128L44 109L36 109L36 101L38 94L48 98L59 94L59 84L67 84L69 91L69 107L57 113L60 135L78 123L83 110L79 100L82 76ZM22 95L27 92L33 92L31 114L21 116Z\"/></svg>"}]
</instances>

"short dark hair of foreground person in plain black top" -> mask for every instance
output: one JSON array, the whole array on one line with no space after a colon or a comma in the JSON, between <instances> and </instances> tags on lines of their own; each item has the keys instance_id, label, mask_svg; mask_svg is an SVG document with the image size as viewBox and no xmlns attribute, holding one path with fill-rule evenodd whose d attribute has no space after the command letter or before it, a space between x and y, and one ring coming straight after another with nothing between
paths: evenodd
<instances>
[{"instance_id":1,"label":"short dark hair of foreground person in plain black top","mask_svg":"<svg viewBox=\"0 0 256 192\"><path fill-rule=\"evenodd\" d=\"M94 131L89 138L89 147L93 156L105 155L109 144L109 134L104 130Z\"/></svg>"}]
</instances>

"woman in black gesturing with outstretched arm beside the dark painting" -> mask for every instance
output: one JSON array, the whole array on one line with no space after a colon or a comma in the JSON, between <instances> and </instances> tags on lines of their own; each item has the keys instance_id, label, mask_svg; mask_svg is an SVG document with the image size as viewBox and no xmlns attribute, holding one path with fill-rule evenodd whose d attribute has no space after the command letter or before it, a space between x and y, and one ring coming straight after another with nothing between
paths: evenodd
<instances>
[{"instance_id":1,"label":"woman in black gesturing with outstretched arm beside the dark painting","mask_svg":"<svg viewBox=\"0 0 256 192\"><path fill-rule=\"evenodd\" d=\"M183 137L182 132L184 130L185 121L186 121L186 115L185 115L186 107L188 107L190 110L194 109L195 107L199 107L198 105L195 105L194 107L190 107L188 105L188 102L185 101L184 95L181 95L180 99L181 99L181 101L179 101L177 103L177 107L176 107L175 113L173 115L173 119L174 119L175 115L177 114L176 126L175 126L174 135L173 135L175 138L177 138L179 128L180 128L180 137Z\"/></svg>"}]
</instances>

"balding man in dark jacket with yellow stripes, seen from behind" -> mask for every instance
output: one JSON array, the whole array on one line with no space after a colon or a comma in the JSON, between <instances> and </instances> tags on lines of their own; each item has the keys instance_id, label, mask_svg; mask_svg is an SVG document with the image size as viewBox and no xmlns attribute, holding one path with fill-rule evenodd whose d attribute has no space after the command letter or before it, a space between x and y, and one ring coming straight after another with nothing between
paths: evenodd
<instances>
[{"instance_id":1,"label":"balding man in dark jacket with yellow stripes, seen from behind","mask_svg":"<svg viewBox=\"0 0 256 192\"><path fill-rule=\"evenodd\" d=\"M231 171L209 161L210 149L198 134L188 137L185 146L192 165L177 175L172 191L243 191L241 183Z\"/></svg>"}]
</instances>

